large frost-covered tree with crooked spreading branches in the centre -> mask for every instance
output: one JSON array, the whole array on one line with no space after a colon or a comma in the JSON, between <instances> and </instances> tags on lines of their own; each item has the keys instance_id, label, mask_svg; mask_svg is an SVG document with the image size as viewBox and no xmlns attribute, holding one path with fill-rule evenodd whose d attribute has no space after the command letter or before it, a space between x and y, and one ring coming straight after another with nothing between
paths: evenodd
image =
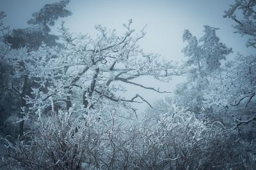
<instances>
[{"instance_id":1,"label":"large frost-covered tree with crooked spreading branches in the centre","mask_svg":"<svg viewBox=\"0 0 256 170\"><path fill-rule=\"evenodd\" d=\"M115 30L108 32L105 27L97 25L99 34L96 39L72 36L63 25L60 32L66 43L64 49L42 46L31 53L37 63L33 73L40 78L41 87L47 88L47 92L33 89L38 97L35 108L42 104L51 106L51 97L58 105L56 107L65 110L76 104L77 109L83 109L86 113L102 107L120 110L120 106L136 113L129 103L149 103L140 94L131 99L118 95L117 92L126 91L122 84L164 93L132 81L140 76L169 81L172 75L179 74L179 70L173 62L160 60L157 54L144 53L138 41L145 36L145 31L135 35L131 24L131 20L124 24L126 31L122 36L118 36ZM31 99L31 103L33 101L35 99Z\"/></svg>"}]
</instances>

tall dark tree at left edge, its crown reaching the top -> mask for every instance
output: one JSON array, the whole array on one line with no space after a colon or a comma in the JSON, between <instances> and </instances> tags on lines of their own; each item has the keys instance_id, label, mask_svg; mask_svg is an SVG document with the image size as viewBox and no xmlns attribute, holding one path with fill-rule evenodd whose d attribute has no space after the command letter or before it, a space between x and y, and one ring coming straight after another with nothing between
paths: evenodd
<instances>
[{"instance_id":1,"label":"tall dark tree at left edge, its crown reaching the top","mask_svg":"<svg viewBox=\"0 0 256 170\"><path fill-rule=\"evenodd\" d=\"M13 29L12 32L8 32L9 27L3 25L2 19L5 15L3 12L0 13L0 31L3 35L0 46L1 78L4 78L1 79L1 101L4 104L1 106L1 116L3 115L4 121L6 117L18 115L17 121L20 122L20 125L17 131L19 132L15 133L20 134L20 136L24 131L23 109L28 108L25 98L31 97L31 87L38 87L35 82L37 76L32 74L34 69L31 69L35 67L36 62L33 61L33 56L29 55L29 52L37 50L42 45L42 41L47 46L61 46L60 43L56 43L56 39L59 37L49 34L49 26L54 25L54 21L58 18L72 14L65 9L68 3L69 1L60 1L45 4L44 8L34 13L33 18L28 21L28 24L33 25L33 27ZM10 34L6 34L6 32ZM10 107L10 104L6 103L13 103L13 105ZM6 124L4 123L4 125ZM6 128L4 132L8 134L8 130L10 127Z\"/></svg>"}]
</instances>

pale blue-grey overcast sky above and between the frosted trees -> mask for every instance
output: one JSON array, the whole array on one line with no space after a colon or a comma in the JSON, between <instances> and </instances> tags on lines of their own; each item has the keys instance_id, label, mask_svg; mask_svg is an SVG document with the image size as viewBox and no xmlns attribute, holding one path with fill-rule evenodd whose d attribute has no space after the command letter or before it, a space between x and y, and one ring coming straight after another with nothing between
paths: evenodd
<instances>
[{"instance_id":1,"label":"pale blue-grey overcast sky above and between the frosted trees","mask_svg":"<svg viewBox=\"0 0 256 170\"><path fill-rule=\"evenodd\" d=\"M46 3L54 2L56 1L1 0L0 11L5 11L7 17L4 24L10 25L12 29L28 27L26 21L31 18L33 12L38 11ZM184 29L189 29L192 34L200 37L204 33L203 25L220 28L217 34L221 42L233 48L232 55L236 52L253 53L252 49L245 46L246 38L233 33L234 22L222 17L223 12L233 3L234 0L73 0L67 6L73 15L61 20L64 20L66 26L73 32L95 36L95 24L116 29L121 34L124 30L122 24L132 18L136 30L140 30L147 24L146 37L140 42L145 52L159 53L168 60L183 60L183 54L180 51L186 45L182 42ZM60 27L61 20L56 22L54 27ZM56 32L56 29L52 30ZM148 86L155 85L163 87L163 90L169 90L174 89L181 79L173 78L173 81L167 85L148 78L143 78L141 81ZM163 97L154 92L144 92L144 90L143 94L151 102Z\"/></svg>"}]
</instances>

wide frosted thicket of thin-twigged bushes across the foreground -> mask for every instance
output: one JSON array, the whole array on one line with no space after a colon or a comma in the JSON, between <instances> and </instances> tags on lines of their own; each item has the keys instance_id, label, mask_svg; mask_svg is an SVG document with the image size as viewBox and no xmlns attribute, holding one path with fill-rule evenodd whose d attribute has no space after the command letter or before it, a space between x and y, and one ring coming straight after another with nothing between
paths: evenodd
<instances>
[{"instance_id":1,"label":"wide frosted thicket of thin-twigged bushes across the foreground","mask_svg":"<svg viewBox=\"0 0 256 170\"><path fill-rule=\"evenodd\" d=\"M136 125L76 117L39 117L26 138L8 143L4 166L26 169L253 169L255 145L189 115ZM235 141L236 140L236 141Z\"/></svg>"}]
</instances>

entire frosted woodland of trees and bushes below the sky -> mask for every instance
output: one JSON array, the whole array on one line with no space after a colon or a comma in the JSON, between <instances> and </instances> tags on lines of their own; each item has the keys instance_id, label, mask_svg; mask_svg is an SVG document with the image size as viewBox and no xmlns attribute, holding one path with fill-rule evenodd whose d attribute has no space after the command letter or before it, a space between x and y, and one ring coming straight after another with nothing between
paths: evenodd
<instances>
[{"instance_id":1,"label":"entire frosted woodland of trees and bushes below the sky","mask_svg":"<svg viewBox=\"0 0 256 170\"><path fill-rule=\"evenodd\" d=\"M26 27L0 11L0 169L256 169L255 0L220 18L244 47L184 27L178 61L141 45L156 25L71 31L75 2L44 4Z\"/></svg>"}]
</instances>

